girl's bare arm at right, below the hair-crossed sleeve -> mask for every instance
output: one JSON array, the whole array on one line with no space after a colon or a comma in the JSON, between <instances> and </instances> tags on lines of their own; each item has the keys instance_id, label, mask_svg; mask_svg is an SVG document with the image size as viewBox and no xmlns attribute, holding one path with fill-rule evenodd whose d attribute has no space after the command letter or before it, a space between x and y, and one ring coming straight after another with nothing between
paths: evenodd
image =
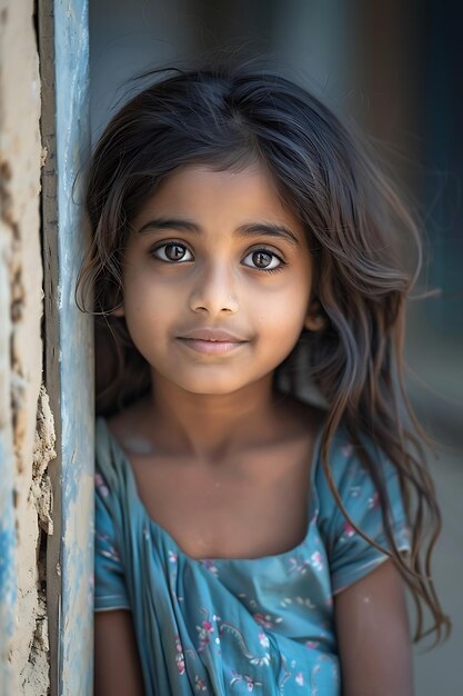
<instances>
[{"instance_id":1,"label":"girl's bare arm at right, below the hair-crossed sleeve","mask_svg":"<svg viewBox=\"0 0 463 696\"><path fill-rule=\"evenodd\" d=\"M343 696L413 696L403 580L385 560L334 598Z\"/></svg>"}]
</instances>

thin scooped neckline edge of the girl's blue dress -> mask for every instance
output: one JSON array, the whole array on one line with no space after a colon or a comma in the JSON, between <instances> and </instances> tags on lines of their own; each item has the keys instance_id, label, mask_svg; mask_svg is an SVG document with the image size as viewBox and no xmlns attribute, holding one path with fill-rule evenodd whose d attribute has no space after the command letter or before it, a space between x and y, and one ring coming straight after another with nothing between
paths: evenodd
<instances>
[{"instance_id":1,"label":"thin scooped neckline edge of the girl's blue dress","mask_svg":"<svg viewBox=\"0 0 463 696\"><path fill-rule=\"evenodd\" d=\"M316 496L316 490L315 490L315 470L318 468L318 464L320 460L320 446L321 446L321 439L323 436L323 419L321 420L321 422L318 424L316 428L315 428L315 437L313 440L313 450L312 450L312 459L311 459L311 465L310 465L310 486L309 486L309 490L308 490L308 510L309 510L309 515L308 515L308 526L306 526L306 530L304 534L303 539L296 544L295 546L293 546L292 548L285 550L285 551L280 551L279 554L266 554L264 556L252 556L252 557L214 557L214 556L208 556L204 558L197 558L193 556L190 556L187 551L183 550L183 548L178 544L178 541L172 537L172 535L165 529L165 527L163 527L160 523L155 521L151 515L148 513L140 495L138 491L138 486L137 486L137 479L135 479L135 475L133 473L132 469L132 465L130 464L130 459L127 456L122 445L119 443L119 440L117 439L117 437L113 435L113 432L111 431L108 421L105 418L103 418L102 416L100 416L97 419L97 427L98 426L102 426L105 432L105 436L110 443L111 448L113 449L113 451L115 453L115 455L122 460L123 463L123 467L124 470L127 471L127 480L130 485L130 487L132 488L132 495L133 495L133 499L135 500L137 506L139 507L139 509L141 510L143 517L147 519L147 521L149 523L150 527L154 530L158 531L158 534L163 537L164 539L169 540L170 545L172 545L175 548L175 551L179 556L184 557L185 559L188 559L190 563L198 563L198 564L213 564L214 566L217 565L222 565L222 564L256 564L259 561L269 561L269 560L279 560L279 559L284 559L288 558L290 556L293 556L294 554L299 553L303 547L306 546L308 540L309 540L309 536L311 534L311 528L312 528L312 524L313 524L313 519L316 516L318 513L318 496Z\"/></svg>"}]
</instances>

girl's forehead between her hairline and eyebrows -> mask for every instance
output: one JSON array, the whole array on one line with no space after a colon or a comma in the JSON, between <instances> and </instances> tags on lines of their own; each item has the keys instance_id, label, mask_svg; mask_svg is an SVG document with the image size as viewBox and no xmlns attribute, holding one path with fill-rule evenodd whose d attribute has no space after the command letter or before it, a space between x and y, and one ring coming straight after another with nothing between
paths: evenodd
<instances>
[{"instance_id":1,"label":"girl's forehead between her hairline and eyebrows","mask_svg":"<svg viewBox=\"0 0 463 696\"><path fill-rule=\"evenodd\" d=\"M280 222L304 237L302 223L282 201L274 179L261 163L239 171L218 171L200 165L182 167L144 202L134 222L141 226L151 216L173 215L205 226Z\"/></svg>"}]
</instances>

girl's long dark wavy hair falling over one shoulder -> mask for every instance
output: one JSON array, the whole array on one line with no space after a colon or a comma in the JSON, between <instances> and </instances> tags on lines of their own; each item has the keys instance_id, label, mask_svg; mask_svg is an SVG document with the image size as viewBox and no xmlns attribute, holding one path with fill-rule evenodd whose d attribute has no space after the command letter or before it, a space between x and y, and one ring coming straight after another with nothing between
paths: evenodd
<instances>
[{"instance_id":1,"label":"girl's long dark wavy hair falling over one shoulder","mask_svg":"<svg viewBox=\"0 0 463 696\"><path fill-rule=\"evenodd\" d=\"M386 553L415 599L415 639L429 633L425 606L439 639L450 628L430 570L441 518L423 434L403 385L405 301L420 271L420 235L365 147L301 87L262 70L174 71L131 99L104 130L90 165L92 242L78 286L84 310L92 310L94 292L97 336L102 336L97 349L110 352L97 370L98 410L108 415L149 388L148 366L124 320L111 316L122 297L131 220L184 165L239 169L255 160L268 167L282 201L305 227L315 256L314 294L325 319L324 330L303 332L298 360L291 356L279 377L295 390L306 375L328 404L322 465L349 519L329 466L333 435L345 426L378 486ZM407 556L394 540L382 470L362 445L366 439L396 468L412 529Z\"/></svg>"}]
</instances>

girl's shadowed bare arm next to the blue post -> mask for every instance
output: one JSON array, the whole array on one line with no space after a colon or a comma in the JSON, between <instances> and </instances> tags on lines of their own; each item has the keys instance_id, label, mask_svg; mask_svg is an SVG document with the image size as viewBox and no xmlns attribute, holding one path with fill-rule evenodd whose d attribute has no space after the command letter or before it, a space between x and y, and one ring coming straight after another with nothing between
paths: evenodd
<instances>
[{"instance_id":1,"label":"girl's shadowed bare arm next to the blue post","mask_svg":"<svg viewBox=\"0 0 463 696\"><path fill-rule=\"evenodd\" d=\"M132 615L124 609L94 615L94 696L143 696Z\"/></svg>"}]
</instances>

